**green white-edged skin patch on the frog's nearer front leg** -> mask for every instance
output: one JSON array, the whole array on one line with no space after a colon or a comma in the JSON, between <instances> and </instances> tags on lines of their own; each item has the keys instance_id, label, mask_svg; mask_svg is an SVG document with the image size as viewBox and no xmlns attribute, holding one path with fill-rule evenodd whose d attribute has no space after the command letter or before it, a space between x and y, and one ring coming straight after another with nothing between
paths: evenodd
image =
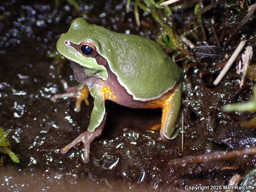
<instances>
[{"instance_id":1,"label":"green white-edged skin patch on the frog's nearer front leg","mask_svg":"<svg viewBox=\"0 0 256 192\"><path fill-rule=\"evenodd\" d=\"M94 106L91 113L90 124L87 130L93 132L100 125L106 110L104 95L99 91L99 85L94 84L89 91L94 99Z\"/></svg>"}]
</instances>

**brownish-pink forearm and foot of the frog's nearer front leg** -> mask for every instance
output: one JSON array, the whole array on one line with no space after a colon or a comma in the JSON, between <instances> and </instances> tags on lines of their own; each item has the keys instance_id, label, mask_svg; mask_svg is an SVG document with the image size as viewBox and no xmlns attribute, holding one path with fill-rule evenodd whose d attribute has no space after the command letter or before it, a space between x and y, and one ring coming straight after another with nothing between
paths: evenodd
<instances>
[{"instance_id":1,"label":"brownish-pink forearm and foot of the frog's nearer front leg","mask_svg":"<svg viewBox=\"0 0 256 192\"><path fill-rule=\"evenodd\" d=\"M92 141L97 138L100 137L101 132L104 128L105 125L105 121L106 121L106 113L104 115L104 118L101 122L101 124L99 125L99 127L97 127L94 132L83 132L81 133L76 139L74 139L71 143L69 143L68 145L66 145L65 147L60 149L60 153L61 154L66 154L68 152L68 150L72 147L74 147L77 143L79 142L83 142L84 144L84 155L82 156L83 162L84 163L88 163L89 162L89 155L90 155L90 146Z\"/></svg>"}]
</instances>

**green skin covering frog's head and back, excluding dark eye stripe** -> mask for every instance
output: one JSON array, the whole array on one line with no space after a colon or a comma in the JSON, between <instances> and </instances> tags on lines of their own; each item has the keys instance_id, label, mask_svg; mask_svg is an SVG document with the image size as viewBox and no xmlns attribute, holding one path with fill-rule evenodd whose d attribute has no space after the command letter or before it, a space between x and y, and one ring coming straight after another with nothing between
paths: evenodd
<instances>
[{"instance_id":1,"label":"green skin covering frog's head and back, excluding dark eye stripe","mask_svg":"<svg viewBox=\"0 0 256 192\"><path fill-rule=\"evenodd\" d=\"M68 59L97 70L103 80L108 78L106 68L98 65L94 58L86 58L65 45L65 41L94 44L134 100L159 98L183 78L182 70L154 41L90 25L83 18L74 20L68 32L60 36L57 49Z\"/></svg>"}]
</instances>

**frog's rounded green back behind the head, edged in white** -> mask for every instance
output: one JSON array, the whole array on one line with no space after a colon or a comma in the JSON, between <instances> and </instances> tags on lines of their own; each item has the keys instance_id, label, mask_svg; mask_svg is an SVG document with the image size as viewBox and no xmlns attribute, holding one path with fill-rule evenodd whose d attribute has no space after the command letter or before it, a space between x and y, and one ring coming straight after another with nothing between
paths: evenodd
<instances>
[{"instance_id":1,"label":"frog's rounded green back behind the head, edged in white","mask_svg":"<svg viewBox=\"0 0 256 192\"><path fill-rule=\"evenodd\" d=\"M115 34L109 41L113 51L105 50L104 57L133 99L160 97L182 81L181 69L154 41L136 35Z\"/></svg>"}]
</instances>

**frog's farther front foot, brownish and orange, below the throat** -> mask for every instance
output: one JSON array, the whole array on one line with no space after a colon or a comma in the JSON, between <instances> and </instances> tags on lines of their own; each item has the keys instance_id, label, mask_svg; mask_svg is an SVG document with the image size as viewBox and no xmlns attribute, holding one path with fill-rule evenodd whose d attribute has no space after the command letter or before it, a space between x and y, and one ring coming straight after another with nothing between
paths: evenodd
<instances>
[{"instance_id":1,"label":"frog's farther front foot, brownish and orange, below the throat","mask_svg":"<svg viewBox=\"0 0 256 192\"><path fill-rule=\"evenodd\" d=\"M89 90L86 85L79 84L78 86L69 87L68 83L61 79L61 83L64 87L65 93L62 94L55 94L51 97L52 101L55 101L57 99L63 99L68 97L73 97L76 99L76 106L75 111L80 112L81 111L81 103L84 100L85 104L89 106L88 96L89 96ZM79 87L81 87L79 89Z\"/></svg>"}]
</instances>

